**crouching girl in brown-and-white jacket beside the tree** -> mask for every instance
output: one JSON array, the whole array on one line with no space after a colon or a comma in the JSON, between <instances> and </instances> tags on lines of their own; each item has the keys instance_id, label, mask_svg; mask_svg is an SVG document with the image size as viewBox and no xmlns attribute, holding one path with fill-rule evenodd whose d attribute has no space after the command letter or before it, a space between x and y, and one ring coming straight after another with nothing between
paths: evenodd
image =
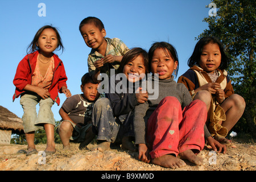
<instances>
[{"instance_id":1,"label":"crouching girl in brown-and-white jacket beside the tree","mask_svg":"<svg viewBox=\"0 0 256 182\"><path fill-rule=\"evenodd\" d=\"M180 76L178 82L187 87L194 100L202 100L207 105L209 131L205 138L208 144L213 148L220 143L230 146L230 140L225 137L242 116L245 101L234 94L225 71L229 58L220 40L214 37L200 39L188 65L191 68Z\"/></svg>"}]
</instances>

